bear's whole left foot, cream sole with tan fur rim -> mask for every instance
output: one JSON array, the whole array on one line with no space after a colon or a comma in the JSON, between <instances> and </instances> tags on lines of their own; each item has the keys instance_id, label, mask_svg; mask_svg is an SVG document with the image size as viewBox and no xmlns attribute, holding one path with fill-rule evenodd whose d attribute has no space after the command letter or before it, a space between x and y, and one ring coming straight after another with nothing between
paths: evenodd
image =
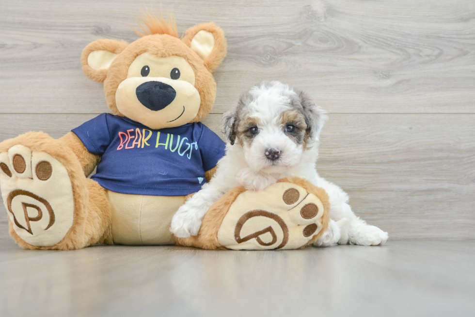
<instances>
[{"instance_id":1,"label":"bear's whole left foot, cream sole with tan fur rim","mask_svg":"<svg viewBox=\"0 0 475 317\"><path fill-rule=\"evenodd\" d=\"M74 153L46 133L0 144L0 190L10 234L23 248L84 246L86 178Z\"/></svg>"}]
</instances>

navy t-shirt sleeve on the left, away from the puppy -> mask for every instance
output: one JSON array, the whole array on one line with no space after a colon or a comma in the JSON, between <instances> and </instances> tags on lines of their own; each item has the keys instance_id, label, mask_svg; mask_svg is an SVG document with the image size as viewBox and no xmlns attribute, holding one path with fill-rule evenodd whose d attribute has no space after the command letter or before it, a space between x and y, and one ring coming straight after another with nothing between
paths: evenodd
<instances>
[{"instance_id":1,"label":"navy t-shirt sleeve on the left, away from the puppy","mask_svg":"<svg viewBox=\"0 0 475 317\"><path fill-rule=\"evenodd\" d=\"M71 131L79 137L88 151L96 155L104 154L109 144L111 144L107 114L99 115L84 122Z\"/></svg>"}]
</instances>

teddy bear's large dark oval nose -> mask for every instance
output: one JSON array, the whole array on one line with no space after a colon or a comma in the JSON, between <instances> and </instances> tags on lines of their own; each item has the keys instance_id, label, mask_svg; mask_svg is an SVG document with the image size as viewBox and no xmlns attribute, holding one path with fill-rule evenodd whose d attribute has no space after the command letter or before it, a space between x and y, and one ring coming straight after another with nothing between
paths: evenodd
<instances>
[{"instance_id":1,"label":"teddy bear's large dark oval nose","mask_svg":"<svg viewBox=\"0 0 475 317\"><path fill-rule=\"evenodd\" d=\"M152 111L158 111L172 103L176 91L166 83L146 82L137 87L135 94L145 107Z\"/></svg>"}]
</instances>

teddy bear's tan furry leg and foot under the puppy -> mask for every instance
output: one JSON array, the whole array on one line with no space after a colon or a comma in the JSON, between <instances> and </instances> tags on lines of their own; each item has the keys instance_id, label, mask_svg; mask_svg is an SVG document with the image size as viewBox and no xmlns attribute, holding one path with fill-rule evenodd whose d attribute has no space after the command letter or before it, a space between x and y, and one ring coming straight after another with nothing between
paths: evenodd
<instances>
[{"instance_id":1,"label":"teddy bear's tan furry leg and foot under the puppy","mask_svg":"<svg viewBox=\"0 0 475 317\"><path fill-rule=\"evenodd\" d=\"M196 236L177 244L208 250L289 250L316 241L330 221L327 193L300 178L263 191L239 186L215 202Z\"/></svg>"}]
</instances>

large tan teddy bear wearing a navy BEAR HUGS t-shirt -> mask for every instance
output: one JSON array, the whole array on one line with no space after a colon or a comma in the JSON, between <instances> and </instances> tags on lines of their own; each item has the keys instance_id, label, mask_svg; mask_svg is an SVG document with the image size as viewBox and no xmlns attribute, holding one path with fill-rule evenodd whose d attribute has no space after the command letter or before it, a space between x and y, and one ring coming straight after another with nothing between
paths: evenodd
<instances>
[{"instance_id":1,"label":"large tan teddy bear wearing a navy BEAR HUGS t-shirt","mask_svg":"<svg viewBox=\"0 0 475 317\"><path fill-rule=\"evenodd\" d=\"M83 72L104 84L112 114L60 139L29 132L0 143L0 190L16 243L42 250L101 243L267 250L315 241L328 225L328 196L301 179L263 192L234 188L211 207L197 236L170 232L174 213L225 153L200 120L215 100L212 72L226 39L214 23L179 38L173 19L142 20L136 41L100 39L82 51ZM315 210L297 219L299 208L289 208L304 200ZM311 228L294 234L299 226Z\"/></svg>"}]
</instances>

